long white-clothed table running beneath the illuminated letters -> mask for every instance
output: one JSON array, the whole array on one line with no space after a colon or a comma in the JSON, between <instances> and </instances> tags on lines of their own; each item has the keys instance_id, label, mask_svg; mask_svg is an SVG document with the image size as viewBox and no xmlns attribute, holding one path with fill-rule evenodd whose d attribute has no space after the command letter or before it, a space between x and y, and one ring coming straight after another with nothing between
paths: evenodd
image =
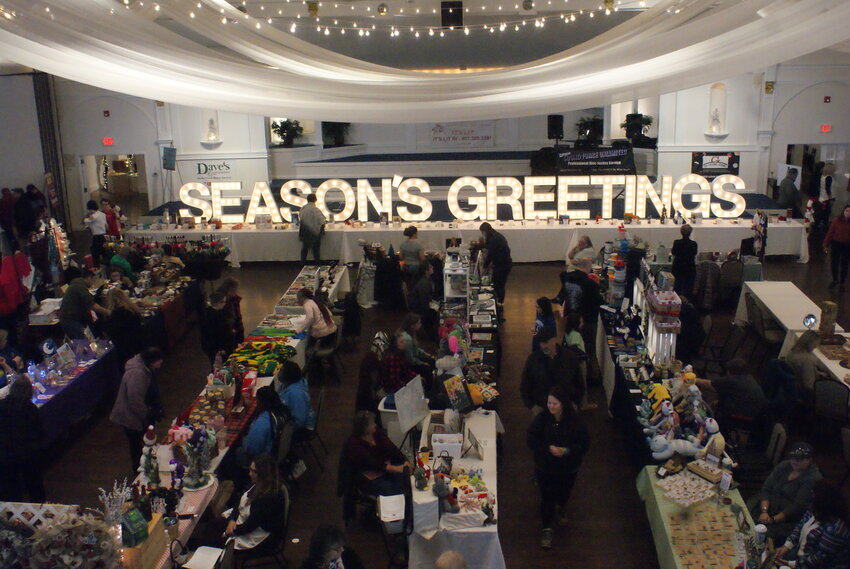
<instances>
[{"instance_id":1,"label":"long white-clothed table running beneath the illuminated letters","mask_svg":"<svg viewBox=\"0 0 850 569\"><path fill-rule=\"evenodd\" d=\"M533 263L542 261L560 261L566 258L567 251L581 235L589 235L594 246L599 247L605 241L617 238L619 220L572 221L566 225L555 220L546 221L493 221L493 227L504 234L511 246L514 262ZM442 221L414 222L419 229L419 241L426 249L445 250L448 238L461 237L465 241L480 239L478 231L480 221L448 223ZM404 240L402 231L410 223L365 223L363 226L351 226L343 223L329 223L322 238L322 254L325 258L339 259L342 263L359 261L363 256L362 242L378 242L389 249L396 249ZM156 227L156 226L154 226ZM657 219L644 220L640 224L628 225L633 236L639 236L650 243L664 243L671 247L679 238L681 226L668 221L661 224ZM301 242L298 230L258 229L246 226L234 230L225 225L219 230L209 229L130 229L128 239L147 238L164 241L167 238L200 239L213 235L229 240L231 253L228 260L234 266L240 263L260 261L296 261L301 256ZM707 251L731 251L738 249L741 240L753 236L750 220L709 219L694 226L693 239L700 248ZM796 220L774 222L768 228L768 255L793 255L801 262L809 260L809 247L806 230Z\"/></svg>"}]
</instances>

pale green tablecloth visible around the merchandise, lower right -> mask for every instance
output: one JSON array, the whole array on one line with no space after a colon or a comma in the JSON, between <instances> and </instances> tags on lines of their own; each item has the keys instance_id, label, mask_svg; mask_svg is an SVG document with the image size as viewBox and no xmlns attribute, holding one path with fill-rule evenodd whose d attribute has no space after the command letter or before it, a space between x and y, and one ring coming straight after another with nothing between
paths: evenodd
<instances>
[{"instance_id":1,"label":"pale green tablecloth visible around the merchandise, lower right","mask_svg":"<svg viewBox=\"0 0 850 569\"><path fill-rule=\"evenodd\" d=\"M664 491L655 484L658 480L655 475L656 469L657 467L655 466L647 466L641 470L637 478L637 489L641 499L646 503L646 515L649 518L649 526L652 528L652 537L655 541L655 551L658 554L658 565L661 569L695 567L694 565L686 565L676 553L677 544L673 538L670 516L671 514L682 512L684 509L667 499L667 497L664 496ZM733 504L737 504L743 508L747 522L750 524L750 527L753 527L753 519L750 517L750 513L747 510L744 499L741 497L741 493L737 490L731 490L727 496L732 500ZM717 506L717 508L727 507L728 506ZM711 509L711 505L704 504L702 508L699 506L691 506L691 510L696 512L699 512L700 510L704 511L705 509ZM697 513L696 515L699 514ZM719 528L707 529L717 530ZM713 536L723 535L722 532L719 531L715 531L713 533L710 531L706 532L706 534L709 533ZM716 545L716 542L710 542L706 539L704 544L697 546L698 550L694 552L694 556L698 556L702 551L710 551L713 547L716 547ZM692 558L694 556L692 556ZM734 565L727 565L727 567L733 566ZM704 567L707 567L707 565Z\"/></svg>"}]
</instances>

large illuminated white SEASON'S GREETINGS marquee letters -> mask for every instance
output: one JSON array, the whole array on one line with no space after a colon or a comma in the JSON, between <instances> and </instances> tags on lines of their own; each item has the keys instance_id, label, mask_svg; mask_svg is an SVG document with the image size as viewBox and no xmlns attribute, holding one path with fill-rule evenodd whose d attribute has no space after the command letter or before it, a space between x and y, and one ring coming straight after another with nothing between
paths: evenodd
<instances>
[{"instance_id":1,"label":"large illuminated white SEASON'S GREETINGS marquee letters","mask_svg":"<svg viewBox=\"0 0 850 569\"><path fill-rule=\"evenodd\" d=\"M696 206L686 208L682 195L688 189ZM625 212L646 217L647 203L652 204L655 215L662 209L669 215L679 212L684 217L700 213L702 217L731 218L744 212L744 198L739 192L745 190L744 181L738 176L722 175L709 182L703 176L688 174L678 180L662 176L653 184L647 176L527 176L523 181L512 177L475 178L464 176L449 187L448 206L455 218L460 220L495 220L499 204L507 205L514 219L546 219L568 216L571 219L588 219L590 210L582 205L588 201L591 189L602 191L602 217L612 218L614 192L623 193ZM304 180L289 180L279 192L279 199L272 194L267 182L257 182L251 195L248 211L243 214L224 214L223 208L241 204L241 182L190 182L180 188L180 199L187 206L199 209L206 219L218 218L223 223L254 223L258 215L270 215L273 223L292 221L292 207L307 204L304 196L316 194L316 205L332 221L345 221L355 212L357 219L369 219L371 204L379 214L390 217L398 215L404 221L426 221L433 207L426 197L431 187L421 178L384 178L379 189L373 188L369 180L357 180L356 187L345 180L331 179L313 188ZM691 191L694 190L694 191ZM328 192L342 194L344 207L339 213L328 210ZM462 208L459 199L466 197L469 204ZM393 203L402 202L395 206ZM280 205L283 203L284 205ZM540 206L548 204L543 209ZM554 207L552 207L554 206ZM192 216L189 209L181 209L183 217Z\"/></svg>"}]
</instances>

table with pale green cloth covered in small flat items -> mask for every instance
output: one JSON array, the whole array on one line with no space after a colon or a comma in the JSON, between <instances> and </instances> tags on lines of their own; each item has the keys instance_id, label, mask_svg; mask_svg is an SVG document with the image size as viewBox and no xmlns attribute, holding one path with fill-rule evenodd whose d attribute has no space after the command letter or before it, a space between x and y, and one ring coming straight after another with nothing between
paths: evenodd
<instances>
[{"instance_id":1,"label":"table with pale green cloth covered in small flat items","mask_svg":"<svg viewBox=\"0 0 850 569\"><path fill-rule=\"evenodd\" d=\"M729 569L737 562L716 564L715 553L720 549L733 550L729 540L734 541L737 527L730 506L717 504L713 499L691 506L690 518L683 521L685 509L669 500L656 482L656 467L647 466L637 478L638 494L646 505L646 515L655 541L658 564L661 569ZM753 520L740 492L731 490L728 497L733 504L743 508L750 527ZM672 517L671 517L672 516ZM685 536L685 529L689 535Z\"/></svg>"}]
</instances>

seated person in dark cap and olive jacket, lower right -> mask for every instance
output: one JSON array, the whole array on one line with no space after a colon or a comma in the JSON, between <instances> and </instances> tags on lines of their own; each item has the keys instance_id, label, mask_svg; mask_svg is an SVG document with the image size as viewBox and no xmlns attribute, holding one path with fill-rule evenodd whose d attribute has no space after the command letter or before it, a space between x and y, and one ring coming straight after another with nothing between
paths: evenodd
<instances>
[{"instance_id":1,"label":"seated person in dark cap and olive jacket, lower right","mask_svg":"<svg viewBox=\"0 0 850 569\"><path fill-rule=\"evenodd\" d=\"M794 529L809 507L812 486L822 478L812 460L813 449L798 443L788 453L789 460L776 465L747 506L756 523L767 526L767 536L781 543Z\"/></svg>"}]
</instances>

